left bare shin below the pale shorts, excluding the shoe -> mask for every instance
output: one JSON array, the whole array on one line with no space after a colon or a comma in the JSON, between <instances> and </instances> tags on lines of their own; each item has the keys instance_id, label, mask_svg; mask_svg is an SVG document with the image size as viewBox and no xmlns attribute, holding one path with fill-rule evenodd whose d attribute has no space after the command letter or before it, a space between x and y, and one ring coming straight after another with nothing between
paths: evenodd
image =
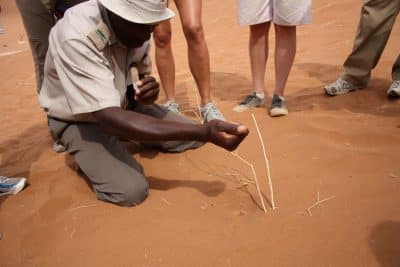
<instances>
[{"instance_id":1,"label":"left bare shin below the pale shorts, excluding the shoe","mask_svg":"<svg viewBox=\"0 0 400 267\"><path fill-rule=\"evenodd\" d=\"M271 23L250 26L249 55L253 88L256 93L264 93L265 68L268 59L268 33Z\"/></svg>"}]
</instances>

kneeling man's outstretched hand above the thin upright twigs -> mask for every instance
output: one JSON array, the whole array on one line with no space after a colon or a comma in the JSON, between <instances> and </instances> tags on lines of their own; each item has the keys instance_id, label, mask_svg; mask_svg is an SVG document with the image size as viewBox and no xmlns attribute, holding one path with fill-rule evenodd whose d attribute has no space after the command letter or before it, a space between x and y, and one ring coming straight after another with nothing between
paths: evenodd
<instances>
[{"instance_id":1,"label":"kneeling man's outstretched hand above the thin upright twigs","mask_svg":"<svg viewBox=\"0 0 400 267\"><path fill-rule=\"evenodd\" d=\"M249 134L249 130L244 125L220 120L212 120L206 126L208 141L229 151L235 150Z\"/></svg>"}]
</instances>

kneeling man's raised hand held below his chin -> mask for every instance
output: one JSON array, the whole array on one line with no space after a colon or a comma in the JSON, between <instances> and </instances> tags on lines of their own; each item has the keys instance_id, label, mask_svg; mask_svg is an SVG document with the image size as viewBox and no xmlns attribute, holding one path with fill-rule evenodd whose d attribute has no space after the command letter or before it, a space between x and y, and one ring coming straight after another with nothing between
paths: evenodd
<instances>
[{"instance_id":1,"label":"kneeling man's raised hand held below his chin","mask_svg":"<svg viewBox=\"0 0 400 267\"><path fill-rule=\"evenodd\" d=\"M159 84L152 76L147 76L135 83L135 100L144 105L153 104L160 92Z\"/></svg>"}]
</instances>

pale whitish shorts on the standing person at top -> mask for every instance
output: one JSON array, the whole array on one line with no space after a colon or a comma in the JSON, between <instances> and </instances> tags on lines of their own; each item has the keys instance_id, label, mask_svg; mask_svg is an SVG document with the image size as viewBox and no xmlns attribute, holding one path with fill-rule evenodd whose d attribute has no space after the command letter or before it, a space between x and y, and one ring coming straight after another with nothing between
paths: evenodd
<instances>
[{"instance_id":1,"label":"pale whitish shorts on the standing person at top","mask_svg":"<svg viewBox=\"0 0 400 267\"><path fill-rule=\"evenodd\" d=\"M238 0L239 24L273 22L282 26L311 23L312 0Z\"/></svg>"}]
</instances>

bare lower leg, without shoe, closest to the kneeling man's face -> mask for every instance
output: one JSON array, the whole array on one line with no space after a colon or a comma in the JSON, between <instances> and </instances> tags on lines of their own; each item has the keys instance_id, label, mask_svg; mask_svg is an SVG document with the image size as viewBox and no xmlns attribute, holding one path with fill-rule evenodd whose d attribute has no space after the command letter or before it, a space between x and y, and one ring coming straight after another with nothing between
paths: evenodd
<instances>
[{"instance_id":1,"label":"bare lower leg, without shoe, closest to the kneeling man's face","mask_svg":"<svg viewBox=\"0 0 400 267\"><path fill-rule=\"evenodd\" d=\"M156 65L168 101L175 102L175 62L171 49L171 23L165 21L154 29Z\"/></svg>"}]
</instances>

